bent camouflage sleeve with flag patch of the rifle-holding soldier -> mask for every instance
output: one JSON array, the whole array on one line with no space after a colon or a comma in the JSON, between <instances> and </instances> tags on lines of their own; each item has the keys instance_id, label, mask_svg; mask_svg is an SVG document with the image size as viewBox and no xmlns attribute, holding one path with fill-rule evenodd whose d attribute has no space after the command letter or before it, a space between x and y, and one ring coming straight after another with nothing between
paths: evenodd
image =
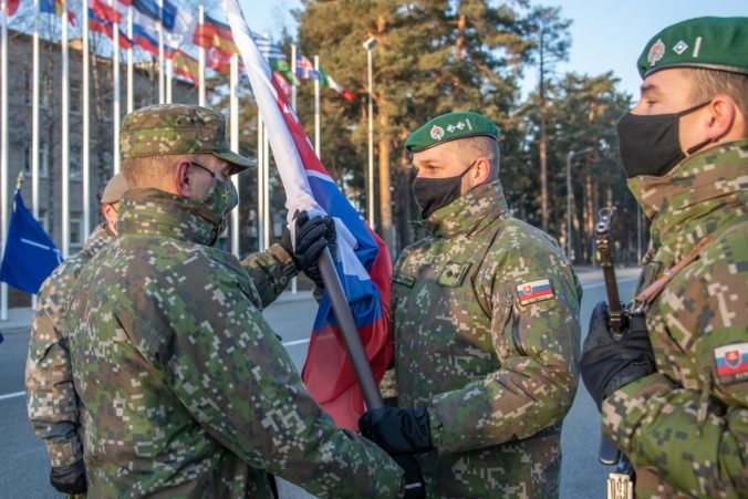
<instances>
[{"instance_id":1,"label":"bent camouflage sleeve with flag patch of the rifle-holding soldier","mask_svg":"<svg viewBox=\"0 0 748 499\"><path fill-rule=\"evenodd\" d=\"M635 465L655 467L697 497L748 490L748 247L745 233L734 237L740 241L702 258L723 263L687 268L647 315L650 335L677 341L681 362L693 361L685 375L698 376L702 386L655 373L619 389L602 407L603 430ZM744 264L725 262L728 257Z\"/></svg>"}]
</instances>

